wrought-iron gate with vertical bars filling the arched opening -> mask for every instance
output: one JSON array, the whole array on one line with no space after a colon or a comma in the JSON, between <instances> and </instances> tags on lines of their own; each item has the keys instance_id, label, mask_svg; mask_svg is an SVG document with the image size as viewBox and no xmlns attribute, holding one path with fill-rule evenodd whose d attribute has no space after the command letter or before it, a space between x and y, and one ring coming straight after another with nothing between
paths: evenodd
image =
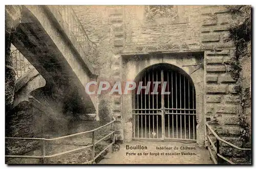
<instances>
[{"instance_id":1,"label":"wrought-iron gate with vertical bars filling the arched opening","mask_svg":"<svg viewBox=\"0 0 256 169\"><path fill-rule=\"evenodd\" d=\"M160 76L158 73L160 73ZM152 77L151 77L151 75L152 75ZM144 96L142 96L143 93L140 93L140 96L138 96L139 94L137 95L137 106L135 104L136 100L134 100L134 103L133 103L134 106L132 108L132 111L133 111L132 115L134 116L133 138L152 138L153 137L153 138L157 138L157 139L161 139L161 140L165 139L165 138L168 138L168 139L169 138L170 139L179 138L179 139L185 139L185 140L195 140L196 139L196 134L195 134L195 131L196 131L195 123L196 122L195 122L195 117L194 117L194 116L196 116L196 108L194 108L195 107L195 104L194 104L195 98L194 98L194 91L192 91L192 92L190 91L190 89L194 90L193 83L191 84L189 79L186 78L185 75L183 75L177 71L175 71L175 72L168 71L168 70L165 71L163 69L160 70L160 69L154 69L154 68L152 69L151 72L148 72L148 71L144 72L141 75L141 77L139 77L139 78L142 81L141 83L145 87L147 86L147 83L150 82L151 80L153 82L154 81L160 81L160 82L153 83L152 88L151 88L151 86L149 86L150 93L144 93ZM167 80L167 84L164 84L164 81L166 81L166 80ZM169 80L171 80L171 81L169 81ZM161 84L161 86L160 86L160 84ZM167 88L168 88L167 90L163 89L164 85L167 85ZM174 85L176 85L176 86L174 87ZM193 88L190 88L190 85L193 86ZM153 93L151 93L151 89L152 89ZM155 91L154 89L157 89L156 94L154 94L154 91ZM143 91L146 91L146 88L143 89ZM160 92L162 92L162 91L170 92L170 94L172 94L172 97L170 97L169 95L166 96L161 93L161 105L159 107L160 103L158 102L158 100L160 99L159 95L160 95ZM151 94L153 94L152 98L151 98ZM190 97L190 94L193 95L192 98ZM144 99L143 99L143 97L144 97ZM135 92L134 92L133 98L136 99ZM151 99L152 99L152 102L151 102ZM180 101L178 101L178 99ZM172 103L170 103L170 100L172 100ZM167 103L167 105L165 105L166 103ZM151 106L151 104L152 104L152 106ZM193 104L193 106L191 107L190 104ZM166 108L165 108L165 106L166 106ZM155 112L155 111L157 111L157 112ZM147 117L147 115L149 115L149 116ZM151 115L153 117L151 117ZM172 115L172 116L170 116L170 115ZM136 116L137 116L137 120L138 120L137 127L135 124ZM155 119L155 116L157 116L156 119ZM158 117L158 116L161 116L161 117ZM190 116L193 116L193 118L190 118ZM153 121L152 121L152 119L153 119ZM161 122L160 122L160 120L161 120ZM188 122L187 122L187 120L188 120ZM193 120L193 122L192 122L192 120ZM175 121L176 121L176 129L175 129ZM178 123L178 121L180 124ZM184 123L184 125L183 125L183 123ZM193 131L191 129L191 127L192 127L191 123L193 123ZM167 125L168 125L168 129L166 127ZM153 126L153 129L152 129L152 126ZM145 127L145 129L143 127ZM172 127L172 129L170 129L170 127ZM137 135L136 135L136 128L137 128ZM155 131L155 129L156 129L156 131ZM152 130L153 130L153 132L152 132ZM176 130L176 135L175 135L175 130ZM159 136L160 132L161 132L161 136ZM172 132L172 134L170 132ZM193 133L193 136L191 135L191 133ZM153 134L153 136L151 136L151 134ZM183 134L184 134L184 136L183 136Z\"/></svg>"}]
</instances>

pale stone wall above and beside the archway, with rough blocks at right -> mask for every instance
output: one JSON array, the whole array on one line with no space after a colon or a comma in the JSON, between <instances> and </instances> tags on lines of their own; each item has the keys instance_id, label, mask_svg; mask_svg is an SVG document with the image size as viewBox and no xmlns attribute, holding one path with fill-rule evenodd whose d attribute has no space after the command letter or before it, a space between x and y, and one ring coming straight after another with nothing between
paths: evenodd
<instances>
[{"instance_id":1,"label":"pale stone wall above and beside the archway, with rough blocks at right","mask_svg":"<svg viewBox=\"0 0 256 169\"><path fill-rule=\"evenodd\" d=\"M234 55L234 44L229 38L229 22L232 19L229 9L225 6L174 6L178 14L173 18L148 20L145 14L147 6L79 8L76 12L78 16L83 15L81 22L89 37L98 41L99 50L104 50L105 46L110 49L110 67L104 71L112 72L108 75L116 79L120 79L120 74L129 72L124 72L119 66L122 58L129 54L143 57L140 54L150 52L204 52L205 120L217 118L218 122L214 126L216 132L231 143L241 146L238 138L241 96L238 82L228 73L230 59ZM106 34L107 30L109 34ZM250 61L244 62L247 65L244 71L250 72L246 69ZM100 76L105 76L104 71L100 72ZM246 79L249 84L250 77ZM125 111L119 106L122 96L114 97L118 99L112 112L118 112L119 115L119 111ZM118 126L120 130L123 125Z\"/></svg>"}]
</instances>

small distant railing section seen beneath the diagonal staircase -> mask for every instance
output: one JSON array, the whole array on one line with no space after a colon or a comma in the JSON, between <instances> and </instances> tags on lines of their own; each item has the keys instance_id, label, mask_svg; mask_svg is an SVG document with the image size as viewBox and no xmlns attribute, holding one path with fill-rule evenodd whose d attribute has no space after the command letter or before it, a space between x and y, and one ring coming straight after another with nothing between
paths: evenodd
<instances>
[{"instance_id":1,"label":"small distant railing section seen beneath the diagonal staircase","mask_svg":"<svg viewBox=\"0 0 256 169\"><path fill-rule=\"evenodd\" d=\"M11 57L16 80L34 68L33 65L17 49L11 52Z\"/></svg>"}]
</instances>

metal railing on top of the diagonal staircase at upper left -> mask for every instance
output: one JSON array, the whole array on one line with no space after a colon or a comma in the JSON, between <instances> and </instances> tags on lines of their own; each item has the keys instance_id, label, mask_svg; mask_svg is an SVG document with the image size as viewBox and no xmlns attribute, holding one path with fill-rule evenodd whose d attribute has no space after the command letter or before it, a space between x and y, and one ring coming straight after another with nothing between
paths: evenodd
<instances>
[{"instance_id":1,"label":"metal railing on top of the diagonal staircase at upper left","mask_svg":"<svg viewBox=\"0 0 256 169\"><path fill-rule=\"evenodd\" d=\"M88 58L89 62L95 64L95 60L97 57L97 45L89 39L86 31L83 29L83 26L77 15L75 14L73 8L71 6L56 7L63 21L65 21L65 23L69 27L69 30L76 38L78 44L83 49L83 52Z\"/></svg>"}]
</instances>

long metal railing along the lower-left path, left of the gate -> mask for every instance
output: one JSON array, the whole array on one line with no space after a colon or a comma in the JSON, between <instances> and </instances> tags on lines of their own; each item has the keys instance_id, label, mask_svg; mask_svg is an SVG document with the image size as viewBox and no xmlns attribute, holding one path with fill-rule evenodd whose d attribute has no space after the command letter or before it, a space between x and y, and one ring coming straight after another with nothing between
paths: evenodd
<instances>
[{"instance_id":1,"label":"long metal railing along the lower-left path, left of the gate","mask_svg":"<svg viewBox=\"0 0 256 169\"><path fill-rule=\"evenodd\" d=\"M90 163L95 163L95 159L98 158L104 151L106 151L106 149L110 148L114 143L115 143L115 121L116 119L113 117L113 121L102 125L96 129L93 130L89 130L89 131L84 131L84 132L79 132L79 133L75 133L75 134L70 134L70 135L66 135L66 136L61 136L61 137L57 137L57 138L24 138L24 137L5 137L5 139L25 139L25 140L40 140L41 141L41 155L40 156L35 156L35 155L5 155L5 157L10 157L10 158L35 158L35 159L41 159L42 163L45 163L45 159L46 158L52 158L52 157L57 157L60 155L64 155L64 154L68 154L68 153L74 153L77 151L81 151L87 148L91 148L91 157L92 159L83 163L83 164L90 164ZM104 135L102 138L100 138L99 140L95 140L95 132L103 127L109 126L112 124L113 127L113 131L111 131L110 133ZM78 136L81 134L86 134L86 133L92 133L92 143L88 146L82 146L76 149L72 149L72 150L68 150L68 151L64 151L64 152L60 152L60 153L56 153L56 154L52 154L52 155L46 155L46 142L49 140L58 140L58 139L62 139L62 138L69 138L72 136ZM97 155L95 155L95 145L97 145L99 142L101 142L103 139L109 137L112 135L112 142L110 144L108 144L108 146L106 146L102 151L100 151Z\"/></svg>"}]
</instances>

